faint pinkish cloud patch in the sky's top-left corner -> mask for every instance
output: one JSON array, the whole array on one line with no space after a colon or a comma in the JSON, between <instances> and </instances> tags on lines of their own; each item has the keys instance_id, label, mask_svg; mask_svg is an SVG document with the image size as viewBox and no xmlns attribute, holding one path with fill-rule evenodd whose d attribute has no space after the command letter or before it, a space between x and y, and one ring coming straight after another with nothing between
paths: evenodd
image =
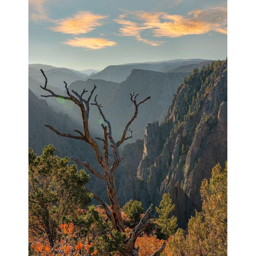
<instances>
[{"instance_id":1,"label":"faint pinkish cloud patch in the sky's top-left corner","mask_svg":"<svg viewBox=\"0 0 256 256\"><path fill-rule=\"evenodd\" d=\"M29 18L34 21L49 20L44 8L44 3L48 0L29 0Z\"/></svg>"}]
</instances>

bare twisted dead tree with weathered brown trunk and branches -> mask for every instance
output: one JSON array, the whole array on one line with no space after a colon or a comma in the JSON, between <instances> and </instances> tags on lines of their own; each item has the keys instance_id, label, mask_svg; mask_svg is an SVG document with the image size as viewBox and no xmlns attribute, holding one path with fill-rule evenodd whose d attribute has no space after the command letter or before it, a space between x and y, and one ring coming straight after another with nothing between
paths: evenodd
<instances>
[{"instance_id":1,"label":"bare twisted dead tree with weathered brown trunk and branches","mask_svg":"<svg viewBox=\"0 0 256 256\"><path fill-rule=\"evenodd\" d=\"M40 69L44 78L45 78L45 84L44 86L40 86L43 90L49 92L49 95L41 95L42 97L55 97L55 98L62 98L65 100L71 100L73 101L81 110L82 114L82 120L83 120L83 131L79 130L74 130L74 132L78 133L79 135L73 135L73 134L68 134L68 133L61 133L54 129L51 125L45 124L46 127L48 127L50 130L58 134L59 136L62 137L68 137L68 138L73 138L77 140L82 140L86 143L88 143L92 149L94 150L95 156L97 157L97 161L100 164L100 166L103 169L104 174L99 173L97 170L95 170L88 162L82 162L76 157L72 157L73 161L75 161L78 165L85 166L87 170L89 170L91 173L96 175L98 178L105 180L106 186L107 186L107 193L108 193L108 198L110 205L108 206L107 203L105 203L99 196L95 195L92 191L90 193L93 194L93 197L99 201L99 203L102 205L103 209L105 210L108 219L111 221L113 227L115 230L119 232L125 232L125 227L124 227L124 221L121 215L121 207L119 204L119 199L117 197L117 191L116 191L116 185L115 185L115 171L121 162L122 158L119 155L118 148L122 145L122 143L127 140L132 138L132 130L130 128L132 122L138 115L139 111L139 106L144 103L145 101L149 100L151 97L147 97L146 99L140 101L137 103L137 97L139 94L134 94L130 93L131 101L133 102L133 105L135 107L134 114L132 115L130 121L126 124L124 131L122 133L122 137L120 140L115 141L112 135L112 129L111 129L111 124L108 121L108 119L105 117L102 111L102 105L98 103L97 101L97 95L94 97L93 103L90 103L90 100L92 98L92 95L96 89L96 86L94 85L92 91L89 94L89 97L87 99L84 99L84 94L88 92L87 90L83 90L81 94L78 94L76 91L71 90L73 94L70 93L67 83L63 81L65 84L66 88L66 93L67 95L59 95L55 94L52 90L47 88L47 77L44 74L44 71ZM102 129L103 129L103 138L96 137L95 139L103 141L103 152L104 156L102 156L100 147L98 143L92 138L90 131L89 131L89 125L88 125L88 119L89 119L89 113L90 113L90 105L95 105L98 110L100 115L103 118L104 123L101 124ZM130 132L130 135L127 135L127 132ZM113 151L113 156L114 156L114 162L112 164L109 163L109 152L108 152L108 143L110 143L110 148ZM142 231L146 228L148 225L148 221L150 219L150 214L152 211L153 205L150 205L146 213L143 215L141 218L139 224L134 227L129 235L129 237L124 241L124 247L123 251L120 253L122 256L138 256L138 250L139 248L135 248L134 244L137 239L137 237L142 233ZM163 251L165 247L165 244L162 245L162 247L156 252L157 254L161 251ZM153 255L157 255L153 254Z\"/></svg>"}]
</instances>

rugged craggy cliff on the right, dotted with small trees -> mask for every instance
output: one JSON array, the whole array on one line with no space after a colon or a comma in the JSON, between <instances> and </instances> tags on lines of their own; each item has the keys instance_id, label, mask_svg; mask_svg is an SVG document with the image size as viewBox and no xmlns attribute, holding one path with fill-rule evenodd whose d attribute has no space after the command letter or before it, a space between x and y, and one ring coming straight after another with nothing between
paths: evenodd
<instances>
[{"instance_id":1,"label":"rugged craggy cliff on the right, dotted with small trees","mask_svg":"<svg viewBox=\"0 0 256 256\"><path fill-rule=\"evenodd\" d=\"M126 145L123 155L117 177L125 178L118 185L130 189L121 202L134 198L145 207L158 205L168 192L179 225L186 227L195 210L201 210L202 180L227 160L227 61L185 78L163 123L148 124L143 140ZM124 172L137 178L130 180Z\"/></svg>"}]
</instances>

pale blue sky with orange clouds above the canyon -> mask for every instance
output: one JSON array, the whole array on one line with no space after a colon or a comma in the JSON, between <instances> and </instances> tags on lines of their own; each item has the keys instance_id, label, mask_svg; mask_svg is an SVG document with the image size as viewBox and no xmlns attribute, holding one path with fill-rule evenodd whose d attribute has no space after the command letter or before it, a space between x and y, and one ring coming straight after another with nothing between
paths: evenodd
<instances>
[{"instance_id":1,"label":"pale blue sky with orange clouds above the canyon","mask_svg":"<svg viewBox=\"0 0 256 256\"><path fill-rule=\"evenodd\" d=\"M29 63L101 70L226 57L227 1L29 0Z\"/></svg>"}]
</instances>

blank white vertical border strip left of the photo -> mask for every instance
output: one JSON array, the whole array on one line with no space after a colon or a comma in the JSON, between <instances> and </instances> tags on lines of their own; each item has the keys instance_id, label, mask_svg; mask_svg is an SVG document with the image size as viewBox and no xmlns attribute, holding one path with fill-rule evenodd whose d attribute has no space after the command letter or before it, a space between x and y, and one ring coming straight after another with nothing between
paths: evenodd
<instances>
[{"instance_id":1,"label":"blank white vertical border strip left of the photo","mask_svg":"<svg viewBox=\"0 0 256 256\"><path fill-rule=\"evenodd\" d=\"M28 255L28 2L1 3L1 255Z\"/></svg>"}]
</instances>

